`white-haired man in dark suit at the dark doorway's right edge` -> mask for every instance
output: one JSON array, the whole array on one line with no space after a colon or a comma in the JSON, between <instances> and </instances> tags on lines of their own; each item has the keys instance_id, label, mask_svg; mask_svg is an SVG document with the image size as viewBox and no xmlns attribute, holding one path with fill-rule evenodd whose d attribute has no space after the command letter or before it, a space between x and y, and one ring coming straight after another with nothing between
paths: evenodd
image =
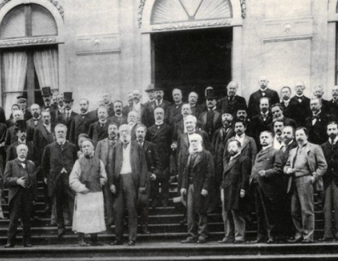
<instances>
[{"instance_id":1,"label":"white-haired man in dark suit at the dark doorway's right edge","mask_svg":"<svg viewBox=\"0 0 338 261\"><path fill-rule=\"evenodd\" d=\"M235 114L239 107L246 109L246 101L242 96L236 94L237 89L237 82L231 81L228 83L228 86L226 87L226 97L219 100L221 113L228 111L230 114Z\"/></svg>"}]
</instances>

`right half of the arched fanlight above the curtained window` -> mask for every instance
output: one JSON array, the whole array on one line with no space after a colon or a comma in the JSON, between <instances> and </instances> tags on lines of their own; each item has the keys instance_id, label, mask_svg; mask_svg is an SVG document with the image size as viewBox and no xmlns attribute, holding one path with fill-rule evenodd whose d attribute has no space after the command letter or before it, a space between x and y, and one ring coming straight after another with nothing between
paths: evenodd
<instances>
[{"instance_id":1,"label":"right half of the arched fanlight above the curtained window","mask_svg":"<svg viewBox=\"0 0 338 261\"><path fill-rule=\"evenodd\" d=\"M51 13L41 6L32 5L32 36L58 35Z\"/></svg>"}]
</instances>

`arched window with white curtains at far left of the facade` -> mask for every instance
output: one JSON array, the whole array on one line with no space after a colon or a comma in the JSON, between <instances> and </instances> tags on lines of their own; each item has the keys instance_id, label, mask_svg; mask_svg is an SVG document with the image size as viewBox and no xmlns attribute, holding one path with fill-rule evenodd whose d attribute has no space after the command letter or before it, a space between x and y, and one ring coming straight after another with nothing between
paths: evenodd
<instances>
[{"instance_id":1,"label":"arched window with white curtains at far left of the facade","mask_svg":"<svg viewBox=\"0 0 338 261\"><path fill-rule=\"evenodd\" d=\"M43 104L42 87L58 90L58 35L56 21L36 4L16 6L0 25L1 90L3 107L10 111L22 93L28 104Z\"/></svg>"}]
</instances>

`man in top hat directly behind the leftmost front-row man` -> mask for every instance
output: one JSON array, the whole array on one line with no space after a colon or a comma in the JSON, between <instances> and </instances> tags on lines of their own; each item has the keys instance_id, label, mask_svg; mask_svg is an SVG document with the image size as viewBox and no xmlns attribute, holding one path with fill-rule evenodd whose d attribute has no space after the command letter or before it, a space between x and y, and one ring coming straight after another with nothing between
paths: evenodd
<instances>
[{"instance_id":1,"label":"man in top hat directly behind the leftmost front-row man","mask_svg":"<svg viewBox=\"0 0 338 261\"><path fill-rule=\"evenodd\" d=\"M17 158L17 146L20 144L25 144L28 147L27 159L33 161L33 141L26 140L27 131L25 120L17 120L14 129L17 134L17 141L7 148L6 161L12 161Z\"/></svg>"}]
</instances>

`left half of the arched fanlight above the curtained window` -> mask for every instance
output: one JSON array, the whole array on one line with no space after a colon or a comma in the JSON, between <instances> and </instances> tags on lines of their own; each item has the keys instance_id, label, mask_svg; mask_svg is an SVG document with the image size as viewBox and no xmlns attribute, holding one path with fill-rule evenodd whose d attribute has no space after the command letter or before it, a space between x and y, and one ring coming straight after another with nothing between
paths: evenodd
<instances>
[{"instance_id":1,"label":"left half of the arched fanlight above the curtained window","mask_svg":"<svg viewBox=\"0 0 338 261\"><path fill-rule=\"evenodd\" d=\"M1 24L1 39L24 37L26 35L24 6L15 8L6 15Z\"/></svg>"}]
</instances>

